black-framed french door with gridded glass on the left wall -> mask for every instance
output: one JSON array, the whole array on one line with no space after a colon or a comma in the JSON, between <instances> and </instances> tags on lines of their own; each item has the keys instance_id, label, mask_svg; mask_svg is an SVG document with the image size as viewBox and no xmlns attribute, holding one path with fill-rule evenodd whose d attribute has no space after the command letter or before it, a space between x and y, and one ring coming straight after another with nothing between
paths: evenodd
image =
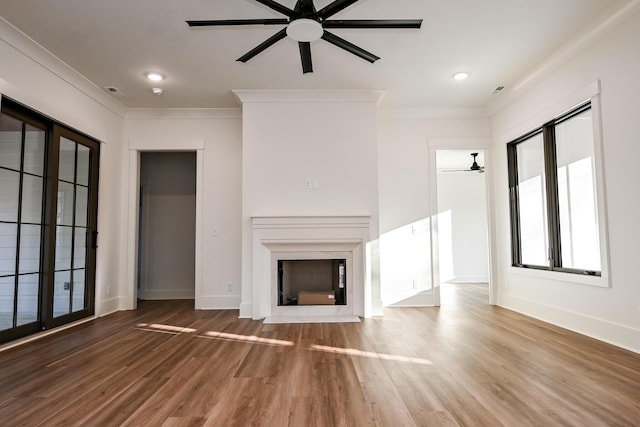
<instances>
[{"instance_id":1,"label":"black-framed french door with gridded glass on the left wall","mask_svg":"<svg viewBox=\"0 0 640 427\"><path fill-rule=\"evenodd\" d=\"M99 148L2 99L0 342L93 314Z\"/></svg>"}]
</instances>

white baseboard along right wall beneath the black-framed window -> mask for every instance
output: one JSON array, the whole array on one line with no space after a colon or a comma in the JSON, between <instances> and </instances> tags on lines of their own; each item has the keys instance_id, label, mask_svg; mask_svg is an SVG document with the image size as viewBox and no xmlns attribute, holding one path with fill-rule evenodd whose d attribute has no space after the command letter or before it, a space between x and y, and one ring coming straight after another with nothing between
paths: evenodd
<instances>
[{"instance_id":1,"label":"white baseboard along right wall beneath the black-framed window","mask_svg":"<svg viewBox=\"0 0 640 427\"><path fill-rule=\"evenodd\" d=\"M640 353L640 329L501 293L501 307Z\"/></svg>"}]
</instances>

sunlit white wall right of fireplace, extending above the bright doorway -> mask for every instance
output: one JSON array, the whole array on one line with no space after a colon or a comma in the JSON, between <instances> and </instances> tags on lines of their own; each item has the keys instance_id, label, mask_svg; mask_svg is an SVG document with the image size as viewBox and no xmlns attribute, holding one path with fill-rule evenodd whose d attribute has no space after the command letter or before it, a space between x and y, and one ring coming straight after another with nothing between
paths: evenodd
<instances>
[{"instance_id":1,"label":"sunlit white wall right of fireplace, extending above the bright doorway","mask_svg":"<svg viewBox=\"0 0 640 427\"><path fill-rule=\"evenodd\" d=\"M380 274L385 305L438 304L426 292L432 287L431 142L437 141L438 148L476 148L477 141L490 137L490 121L481 111L439 114L382 111L379 119Z\"/></svg>"}]
</instances>

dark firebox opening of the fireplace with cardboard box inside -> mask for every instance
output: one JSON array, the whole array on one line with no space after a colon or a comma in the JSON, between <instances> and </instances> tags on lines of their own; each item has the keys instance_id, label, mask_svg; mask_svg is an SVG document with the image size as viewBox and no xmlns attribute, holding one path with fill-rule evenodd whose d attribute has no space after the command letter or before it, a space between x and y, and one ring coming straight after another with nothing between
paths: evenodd
<instances>
[{"instance_id":1,"label":"dark firebox opening of the fireplace with cardboard box inside","mask_svg":"<svg viewBox=\"0 0 640 427\"><path fill-rule=\"evenodd\" d=\"M346 305L345 259L278 260L278 305Z\"/></svg>"}]
</instances>

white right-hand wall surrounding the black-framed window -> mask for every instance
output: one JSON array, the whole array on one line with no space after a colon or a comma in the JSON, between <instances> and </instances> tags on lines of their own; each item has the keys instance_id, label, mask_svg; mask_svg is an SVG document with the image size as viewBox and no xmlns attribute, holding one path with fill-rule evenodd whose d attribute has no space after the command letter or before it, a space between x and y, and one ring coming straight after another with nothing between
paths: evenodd
<instances>
[{"instance_id":1,"label":"white right-hand wall surrounding the black-framed window","mask_svg":"<svg viewBox=\"0 0 640 427\"><path fill-rule=\"evenodd\" d=\"M523 91L492 117L500 304L640 352L640 13ZM505 144L558 114L563 102L601 83L610 287L517 274L510 267ZM507 288L508 286L508 288Z\"/></svg>"}]
</instances>

